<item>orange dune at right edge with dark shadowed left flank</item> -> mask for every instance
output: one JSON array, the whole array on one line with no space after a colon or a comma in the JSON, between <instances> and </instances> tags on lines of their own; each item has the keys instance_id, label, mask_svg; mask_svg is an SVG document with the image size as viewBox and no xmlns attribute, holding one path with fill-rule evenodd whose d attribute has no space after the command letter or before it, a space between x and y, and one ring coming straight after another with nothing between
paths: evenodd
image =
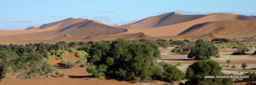
<instances>
[{"instance_id":1,"label":"orange dune at right edge with dark shadowed left flank","mask_svg":"<svg viewBox=\"0 0 256 85\"><path fill-rule=\"evenodd\" d=\"M179 35L217 34L227 37L247 37L256 35L256 21L224 20L196 24Z\"/></svg>"}]
</instances>

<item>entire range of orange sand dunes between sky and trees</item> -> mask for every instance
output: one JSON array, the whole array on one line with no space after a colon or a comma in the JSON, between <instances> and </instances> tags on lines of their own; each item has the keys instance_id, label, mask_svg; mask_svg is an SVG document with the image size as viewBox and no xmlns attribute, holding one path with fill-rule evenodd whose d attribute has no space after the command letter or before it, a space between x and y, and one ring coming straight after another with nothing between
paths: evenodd
<instances>
[{"instance_id":1,"label":"entire range of orange sand dunes between sky and trees","mask_svg":"<svg viewBox=\"0 0 256 85\"><path fill-rule=\"evenodd\" d=\"M67 18L26 30L0 30L0 43L111 41L120 37L127 40L196 40L248 36L256 36L255 16L170 12L117 27L96 20Z\"/></svg>"}]
</instances>

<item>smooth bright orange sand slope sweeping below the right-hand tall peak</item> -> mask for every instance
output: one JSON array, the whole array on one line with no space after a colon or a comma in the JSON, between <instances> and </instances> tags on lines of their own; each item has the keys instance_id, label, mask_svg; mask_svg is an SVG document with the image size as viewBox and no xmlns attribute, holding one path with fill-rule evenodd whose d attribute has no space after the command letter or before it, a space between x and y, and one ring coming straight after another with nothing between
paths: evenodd
<instances>
[{"instance_id":1,"label":"smooth bright orange sand slope sweeping below the right-hand tall peak","mask_svg":"<svg viewBox=\"0 0 256 85\"><path fill-rule=\"evenodd\" d=\"M121 34L143 32L151 37L172 36L180 34L195 24L221 20L256 20L256 18L227 13L210 14L206 17L170 26L162 26L156 28L127 28L128 31Z\"/></svg>"}]
</instances>

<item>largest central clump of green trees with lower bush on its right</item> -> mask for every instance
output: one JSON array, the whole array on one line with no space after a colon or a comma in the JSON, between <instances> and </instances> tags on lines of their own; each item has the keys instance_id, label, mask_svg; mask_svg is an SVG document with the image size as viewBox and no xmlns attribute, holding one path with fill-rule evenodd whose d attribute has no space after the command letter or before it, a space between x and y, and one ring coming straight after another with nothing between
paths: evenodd
<instances>
[{"instance_id":1,"label":"largest central clump of green trees with lower bush on its right","mask_svg":"<svg viewBox=\"0 0 256 85\"><path fill-rule=\"evenodd\" d=\"M86 70L95 77L168 81L185 77L176 66L164 62L155 65L156 58L160 58L160 51L151 42L132 42L120 38L111 44L94 43L89 54L87 62L96 68L87 67Z\"/></svg>"}]
</instances>

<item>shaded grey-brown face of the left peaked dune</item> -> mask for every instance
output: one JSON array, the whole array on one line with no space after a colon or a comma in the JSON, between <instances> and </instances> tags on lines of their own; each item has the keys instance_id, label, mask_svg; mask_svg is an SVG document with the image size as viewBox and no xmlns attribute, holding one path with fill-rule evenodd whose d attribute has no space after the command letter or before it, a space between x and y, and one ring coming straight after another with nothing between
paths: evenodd
<instances>
[{"instance_id":1,"label":"shaded grey-brown face of the left peaked dune","mask_svg":"<svg viewBox=\"0 0 256 85\"><path fill-rule=\"evenodd\" d=\"M107 34L118 34L121 32L125 32L127 29L119 28L114 26L108 26L102 23L99 23L96 20L86 20L80 23L73 24L64 28L63 30L51 34L44 39L55 39L58 37L62 37L66 34L69 34L73 37L79 36L99 36L99 35L107 35Z\"/></svg>"}]
</instances>

